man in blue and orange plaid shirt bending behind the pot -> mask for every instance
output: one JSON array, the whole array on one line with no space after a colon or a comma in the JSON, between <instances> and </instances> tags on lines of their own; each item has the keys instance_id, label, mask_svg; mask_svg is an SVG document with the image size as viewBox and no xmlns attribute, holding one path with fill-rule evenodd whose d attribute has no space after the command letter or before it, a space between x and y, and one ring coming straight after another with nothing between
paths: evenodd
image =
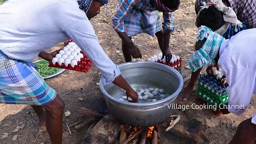
<instances>
[{"instance_id":1,"label":"man in blue and orange plaid shirt bending behind the pot","mask_svg":"<svg viewBox=\"0 0 256 144\"><path fill-rule=\"evenodd\" d=\"M141 52L131 41L131 37L140 33L156 35L159 47L163 53L162 59L172 58L169 49L170 33L173 26L172 12L179 7L179 0L121 0L112 18L112 26L122 39L122 50L125 61L141 58ZM164 22L157 11L163 12Z\"/></svg>"}]
</instances>

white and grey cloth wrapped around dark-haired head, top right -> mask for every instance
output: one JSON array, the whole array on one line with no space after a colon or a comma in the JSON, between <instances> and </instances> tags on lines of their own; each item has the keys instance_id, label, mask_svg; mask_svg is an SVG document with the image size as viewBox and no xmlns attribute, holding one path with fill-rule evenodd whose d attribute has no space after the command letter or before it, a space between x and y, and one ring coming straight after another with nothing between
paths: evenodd
<instances>
[{"instance_id":1,"label":"white and grey cloth wrapped around dark-haired head, top right","mask_svg":"<svg viewBox=\"0 0 256 144\"><path fill-rule=\"evenodd\" d=\"M204 9L208 9L209 6L216 7L217 10L221 11L223 13L223 20L225 21L224 25L220 27L219 29L215 30L215 32L219 33L220 35L223 35L230 25L233 25L235 27L235 32L237 32L237 26L243 27L242 22L237 19L236 13L231 7L225 6L221 0L211 0L210 2L202 2L203 6L201 6L200 11L197 13L197 16L200 14L200 12Z\"/></svg>"}]
</instances>

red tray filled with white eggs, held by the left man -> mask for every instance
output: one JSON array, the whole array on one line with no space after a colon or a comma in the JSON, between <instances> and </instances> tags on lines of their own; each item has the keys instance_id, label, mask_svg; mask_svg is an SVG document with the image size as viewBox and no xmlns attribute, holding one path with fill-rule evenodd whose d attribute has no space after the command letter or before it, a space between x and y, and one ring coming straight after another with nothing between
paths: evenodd
<instances>
[{"instance_id":1,"label":"red tray filled with white eggs, held by the left man","mask_svg":"<svg viewBox=\"0 0 256 144\"><path fill-rule=\"evenodd\" d=\"M49 63L49 67L82 71L84 73L87 73L91 66L92 61L74 42L68 43Z\"/></svg>"}]
</instances>

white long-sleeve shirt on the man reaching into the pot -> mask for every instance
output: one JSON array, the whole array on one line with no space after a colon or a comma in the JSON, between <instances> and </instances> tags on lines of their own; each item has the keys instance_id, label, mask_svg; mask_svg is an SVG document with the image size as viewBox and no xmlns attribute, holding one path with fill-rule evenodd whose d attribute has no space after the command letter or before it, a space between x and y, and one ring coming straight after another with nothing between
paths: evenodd
<instances>
[{"instance_id":1,"label":"white long-sleeve shirt on the man reaching into the pot","mask_svg":"<svg viewBox=\"0 0 256 144\"><path fill-rule=\"evenodd\" d=\"M120 75L77 0L9 0L0 5L0 50L9 58L30 61L68 39L92 60L103 84Z\"/></svg>"}]
</instances>

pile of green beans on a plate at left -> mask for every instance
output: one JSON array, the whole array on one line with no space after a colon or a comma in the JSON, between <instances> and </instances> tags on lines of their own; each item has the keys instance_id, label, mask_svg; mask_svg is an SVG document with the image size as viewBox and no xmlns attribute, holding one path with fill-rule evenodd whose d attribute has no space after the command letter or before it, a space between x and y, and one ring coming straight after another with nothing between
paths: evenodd
<instances>
[{"instance_id":1,"label":"pile of green beans on a plate at left","mask_svg":"<svg viewBox=\"0 0 256 144\"><path fill-rule=\"evenodd\" d=\"M47 60L41 60L41 61L34 62L34 63L38 67L38 73L42 77L46 77L46 76L56 74L56 73L58 73L58 71L61 70L61 68L48 67L49 61L47 61Z\"/></svg>"}]
</instances>

